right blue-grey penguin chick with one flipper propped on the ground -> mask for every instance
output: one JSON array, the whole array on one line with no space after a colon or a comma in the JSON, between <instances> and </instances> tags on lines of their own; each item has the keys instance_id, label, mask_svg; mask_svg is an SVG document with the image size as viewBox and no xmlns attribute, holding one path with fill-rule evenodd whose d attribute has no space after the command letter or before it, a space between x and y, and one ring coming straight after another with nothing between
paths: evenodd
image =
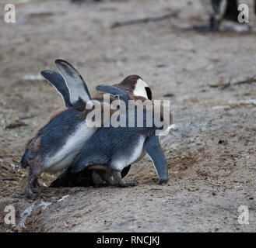
<instances>
[{"instance_id":1,"label":"right blue-grey penguin chick with one flipper propped on the ground","mask_svg":"<svg viewBox=\"0 0 256 248\"><path fill-rule=\"evenodd\" d=\"M118 95L125 105L128 105L128 93L120 88L110 88L110 86L97 86L98 91L109 93L110 95ZM156 126L154 115L153 125L146 126L147 111L145 108L137 108L134 112L121 113L117 120L125 119L125 127L114 127L112 122L108 126L103 126L91 136L86 145L82 148L81 153L72 164L72 173L77 173L85 168L106 171L103 174L105 180L112 185L118 186L134 186L135 182L124 183L121 179L121 171L128 165L136 162L142 157L145 151L151 160L153 160L156 173L159 177L160 184L168 181L167 162L160 146L159 136L156 136L156 130L162 130L163 126ZM134 114L134 115L130 115ZM123 116L124 115L124 116ZM137 116L142 116L142 127L137 125ZM134 118L135 126L129 127L130 118ZM163 117L162 117L163 119ZM108 173L111 171L111 174ZM113 176L113 179L112 177Z\"/></svg>"}]
</instances>

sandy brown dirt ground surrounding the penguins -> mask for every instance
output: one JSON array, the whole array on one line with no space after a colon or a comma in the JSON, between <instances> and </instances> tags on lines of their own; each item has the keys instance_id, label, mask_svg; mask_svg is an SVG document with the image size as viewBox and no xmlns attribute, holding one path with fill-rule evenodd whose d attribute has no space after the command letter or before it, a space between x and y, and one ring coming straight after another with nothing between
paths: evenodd
<instances>
[{"instance_id":1,"label":"sandy brown dirt ground surrounding the penguins","mask_svg":"<svg viewBox=\"0 0 256 248\"><path fill-rule=\"evenodd\" d=\"M1 2L1 232L256 231L256 82L237 84L256 76L255 33L184 29L206 21L198 1L28 1L16 5L15 24L3 21L3 6L18 1ZM176 9L177 18L110 28ZM146 157L126 177L139 181L135 188L42 187L41 198L25 198L23 143L63 105L39 77L56 70L57 58L75 64L91 92L139 74L153 98L170 99L175 125L162 140L168 184L157 184ZM5 129L17 122L26 126ZM55 177L43 174L40 184ZM6 205L16 208L15 226L3 222ZM237 222L240 205L249 208L247 225Z\"/></svg>"}]
</instances>

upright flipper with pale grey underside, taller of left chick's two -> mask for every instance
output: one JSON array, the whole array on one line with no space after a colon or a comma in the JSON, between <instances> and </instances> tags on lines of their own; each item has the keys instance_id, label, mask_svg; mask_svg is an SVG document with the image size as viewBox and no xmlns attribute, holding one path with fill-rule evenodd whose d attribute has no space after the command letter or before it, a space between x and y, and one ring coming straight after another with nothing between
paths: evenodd
<instances>
[{"instance_id":1,"label":"upright flipper with pale grey underside, taller of left chick's two","mask_svg":"<svg viewBox=\"0 0 256 248\"><path fill-rule=\"evenodd\" d=\"M64 77L72 105L74 105L79 98L81 98L84 102L88 102L91 99L91 96L89 95L86 83L83 81L79 72L76 71L76 69L65 60L55 60L55 64L57 65L58 70L61 72L62 77Z\"/></svg>"}]
</instances>

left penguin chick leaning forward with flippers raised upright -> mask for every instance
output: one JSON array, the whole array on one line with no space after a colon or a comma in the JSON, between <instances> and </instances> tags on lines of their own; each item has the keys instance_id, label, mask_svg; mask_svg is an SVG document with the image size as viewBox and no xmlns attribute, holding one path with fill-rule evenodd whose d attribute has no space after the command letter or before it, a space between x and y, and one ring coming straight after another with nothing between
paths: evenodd
<instances>
[{"instance_id":1,"label":"left penguin chick leaning forward with flippers raised upright","mask_svg":"<svg viewBox=\"0 0 256 248\"><path fill-rule=\"evenodd\" d=\"M72 106L51 117L26 143L21 164L23 168L30 167L25 187L25 193L30 198L35 197L32 188L38 186L37 178L40 174L70 166L89 137L98 129L86 121L92 111L90 106L100 105L101 114L104 109L110 108L106 102L91 99L85 81L71 64L65 60L56 60L55 63L68 87L69 102L66 103ZM79 91L84 94L79 95Z\"/></svg>"}]
</instances>

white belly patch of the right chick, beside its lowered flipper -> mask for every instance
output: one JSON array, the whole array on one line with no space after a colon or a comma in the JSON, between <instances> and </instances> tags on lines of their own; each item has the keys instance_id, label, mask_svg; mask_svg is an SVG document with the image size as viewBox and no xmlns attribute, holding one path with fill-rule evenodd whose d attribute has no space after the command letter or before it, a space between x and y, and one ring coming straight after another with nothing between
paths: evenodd
<instances>
[{"instance_id":1,"label":"white belly patch of the right chick, beside its lowered flipper","mask_svg":"<svg viewBox=\"0 0 256 248\"><path fill-rule=\"evenodd\" d=\"M140 160L142 157L144 157L145 153L143 150L143 146L145 139L145 136L139 137L138 143L136 143L133 147L134 149L132 151L132 155L119 153L119 156L111 163L111 167L114 170L121 171L124 169L124 167L127 167L129 164L132 164L135 161Z\"/></svg>"}]
</instances>

